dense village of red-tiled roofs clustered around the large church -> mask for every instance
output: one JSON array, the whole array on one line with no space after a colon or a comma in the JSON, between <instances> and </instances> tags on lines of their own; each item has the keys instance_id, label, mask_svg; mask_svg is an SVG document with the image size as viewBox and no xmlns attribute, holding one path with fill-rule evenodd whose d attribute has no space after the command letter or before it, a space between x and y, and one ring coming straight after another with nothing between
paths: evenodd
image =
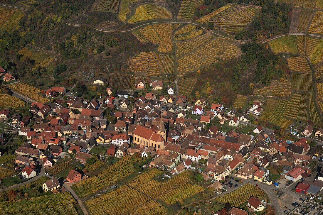
<instances>
[{"instance_id":1,"label":"dense village of red-tiled roofs clustered around the large church","mask_svg":"<svg viewBox=\"0 0 323 215\"><path fill-rule=\"evenodd\" d=\"M106 80L97 78L93 84L106 86ZM257 124L255 119L263 111L261 101L236 110L209 104L202 97L189 102L185 95L176 94L173 85L163 86L162 81L139 79L135 87L128 92L107 86L105 95L91 100L76 97L64 87L52 87L45 95L53 102L32 102L32 116L2 109L0 168L8 174L2 174L0 191L46 176L41 185L44 192L69 191L80 200L74 192L78 183L133 156L141 159L137 174L156 168L162 170L158 177L167 180L184 171L193 172L198 183L214 190L215 200L248 184L266 191L266 198L251 195L244 207L226 208L233 215L262 214L269 202L277 202L277 214L287 214L307 201L316 204L321 200L322 128L308 123L295 132L290 129L293 123L285 132L297 140L286 140L275 129ZM161 91L166 95L160 96ZM99 193L83 197L89 200L119 187L118 183L106 185ZM278 203L273 190L296 200ZM226 203L217 203L221 202ZM224 212L220 207L213 214Z\"/></svg>"}]
</instances>

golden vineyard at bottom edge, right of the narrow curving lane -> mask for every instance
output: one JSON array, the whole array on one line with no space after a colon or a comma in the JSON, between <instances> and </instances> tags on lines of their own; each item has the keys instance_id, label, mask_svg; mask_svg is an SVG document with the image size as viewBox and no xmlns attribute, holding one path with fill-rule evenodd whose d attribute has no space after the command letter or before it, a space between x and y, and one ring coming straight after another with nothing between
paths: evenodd
<instances>
[{"instance_id":1,"label":"golden vineyard at bottom edge, right of the narrow curving lane","mask_svg":"<svg viewBox=\"0 0 323 215\"><path fill-rule=\"evenodd\" d=\"M126 185L85 202L91 215L99 214L167 214L157 201ZM143 206L143 207L142 207Z\"/></svg>"}]
</instances>

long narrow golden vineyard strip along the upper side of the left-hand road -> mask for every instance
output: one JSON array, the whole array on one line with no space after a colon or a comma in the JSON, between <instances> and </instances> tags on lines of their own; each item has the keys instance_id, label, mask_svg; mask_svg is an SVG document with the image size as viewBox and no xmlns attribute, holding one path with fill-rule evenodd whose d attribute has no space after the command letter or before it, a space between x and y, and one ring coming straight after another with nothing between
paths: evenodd
<instances>
[{"instance_id":1,"label":"long narrow golden vineyard strip along the upper side of the left-hand road","mask_svg":"<svg viewBox=\"0 0 323 215\"><path fill-rule=\"evenodd\" d=\"M39 95L40 89L38 89L36 87L32 87L32 86L27 85L25 83L20 82L20 83L16 83L16 84L11 84L11 85L8 85L8 87L18 91L19 93L21 93L29 98L32 98L38 102L46 103L49 101L48 98L45 98L45 97L42 97Z\"/></svg>"}]
</instances>

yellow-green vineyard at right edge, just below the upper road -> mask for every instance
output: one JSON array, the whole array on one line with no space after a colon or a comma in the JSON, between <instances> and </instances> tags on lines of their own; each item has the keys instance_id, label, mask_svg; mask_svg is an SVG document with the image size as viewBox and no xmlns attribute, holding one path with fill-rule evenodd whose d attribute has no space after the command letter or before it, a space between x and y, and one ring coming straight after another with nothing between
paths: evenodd
<instances>
[{"instance_id":1,"label":"yellow-green vineyard at right edge, just below the upper road","mask_svg":"<svg viewBox=\"0 0 323 215\"><path fill-rule=\"evenodd\" d=\"M316 37L306 37L306 54L312 64L317 64L323 60L323 39Z\"/></svg>"}]
</instances>

